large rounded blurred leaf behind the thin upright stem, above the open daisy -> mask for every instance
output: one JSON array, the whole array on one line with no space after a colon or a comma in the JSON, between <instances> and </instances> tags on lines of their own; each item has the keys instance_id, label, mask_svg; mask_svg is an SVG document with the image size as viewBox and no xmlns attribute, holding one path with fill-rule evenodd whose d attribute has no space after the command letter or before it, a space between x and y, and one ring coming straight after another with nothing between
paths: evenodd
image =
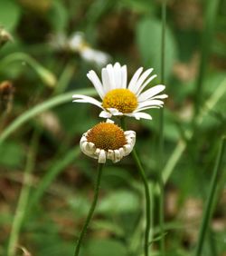
<instances>
[{"instance_id":1,"label":"large rounded blurred leaf behind the thin upright stem, above the open daisy","mask_svg":"<svg viewBox=\"0 0 226 256\"><path fill-rule=\"evenodd\" d=\"M137 46L145 66L152 66L155 74L160 74L161 69L161 37L162 24L157 19L144 18L137 25ZM169 28L165 31L165 77L171 74L177 48L174 36Z\"/></svg>"}]
</instances>

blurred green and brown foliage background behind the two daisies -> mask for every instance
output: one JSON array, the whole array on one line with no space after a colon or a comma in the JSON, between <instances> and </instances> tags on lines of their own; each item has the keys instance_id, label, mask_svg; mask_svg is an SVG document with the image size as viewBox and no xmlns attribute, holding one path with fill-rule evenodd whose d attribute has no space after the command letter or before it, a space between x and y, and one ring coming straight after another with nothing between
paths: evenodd
<instances>
[{"instance_id":1,"label":"blurred green and brown foliage background behind the two daisies","mask_svg":"<svg viewBox=\"0 0 226 256\"><path fill-rule=\"evenodd\" d=\"M225 134L226 1L216 1L215 15L211 2L170 0L166 6L169 97L163 166L170 174L165 174L169 176L165 246L166 255L171 256L193 251ZM33 172L26 181L31 191L16 255L73 255L97 174L96 161L80 153L80 136L101 119L99 109L71 103L71 96L76 90L95 95L86 74L90 69L100 74L108 63L127 64L129 78L139 66L153 67L158 77L151 85L160 83L161 4L161 0L0 0L0 134L5 136L0 142L0 255L6 255L24 170L31 162ZM75 34L82 38L79 47L71 43ZM86 58L84 49L94 51L95 57ZM193 131L200 77L199 101L205 107ZM129 120L129 127L137 132L137 151L153 181L159 159L159 112L150 113L153 121ZM12 130L6 131L9 127ZM224 171L225 160L224 155ZM213 256L212 251L226 255L225 172L219 180L204 256ZM151 255L160 255L154 188L153 193ZM108 162L99 205L80 255L142 255L144 203L142 182L130 157L117 164Z\"/></svg>"}]
</instances>

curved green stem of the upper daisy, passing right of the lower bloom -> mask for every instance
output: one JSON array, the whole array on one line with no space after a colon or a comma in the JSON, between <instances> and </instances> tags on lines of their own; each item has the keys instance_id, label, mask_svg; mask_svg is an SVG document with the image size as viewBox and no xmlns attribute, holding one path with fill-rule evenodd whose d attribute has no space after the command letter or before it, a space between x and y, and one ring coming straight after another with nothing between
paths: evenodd
<instances>
[{"instance_id":1,"label":"curved green stem of the upper daisy, passing right of the lower bloom","mask_svg":"<svg viewBox=\"0 0 226 256\"><path fill-rule=\"evenodd\" d=\"M145 233L145 256L148 256L148 245L149 245L149 232L151 228L151 211L150 211L150 206L151 206L151 198L150 198L150 192L149 192L149 187L148 187L148 182L146 179L146 172L142 167L142 164L137 156L137 152L134 149L132 151L132 156L137 164L137 169L140 172L142 181L144 182L145 185L145 192L146 192L146 233Z\"/></svg>"}]
</instances>

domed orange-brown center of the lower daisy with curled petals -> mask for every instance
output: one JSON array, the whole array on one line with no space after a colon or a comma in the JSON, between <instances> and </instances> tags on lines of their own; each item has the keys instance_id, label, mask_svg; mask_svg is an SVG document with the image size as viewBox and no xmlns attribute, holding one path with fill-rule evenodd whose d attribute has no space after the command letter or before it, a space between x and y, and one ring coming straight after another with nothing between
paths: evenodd
<instances>
[{"instance_id":1,"label":"domed orange-brown center of the lower daisy with curled petals","mask_svg":"<svg viewBox=\"0 0 226 256\"><path fill-rule=\"evenodd\" d=\"M97 148L105 151L117 150L127 144L123 130L114 123L95 125L89 131L87 141L94 143Z\"/></svg>"}]
</instances>

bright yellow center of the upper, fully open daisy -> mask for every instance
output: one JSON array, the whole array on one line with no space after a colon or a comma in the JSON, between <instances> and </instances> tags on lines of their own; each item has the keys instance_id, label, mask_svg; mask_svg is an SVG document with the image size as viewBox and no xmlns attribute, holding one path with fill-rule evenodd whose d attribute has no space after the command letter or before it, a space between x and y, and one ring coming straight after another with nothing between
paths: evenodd
<instances>
[{"instance_id":1,"label":"bright yellow center of the upper, fully open daisy","mask_svg":"<svg viewBox=\"0 0 226 256\"><path fill-rule=\"evenodd\" d=\"M104 108L116 108L121 113L132 113L137 108L137 96L128 89L114 89L103 99Z\"/></svg>"}]
</instances>

